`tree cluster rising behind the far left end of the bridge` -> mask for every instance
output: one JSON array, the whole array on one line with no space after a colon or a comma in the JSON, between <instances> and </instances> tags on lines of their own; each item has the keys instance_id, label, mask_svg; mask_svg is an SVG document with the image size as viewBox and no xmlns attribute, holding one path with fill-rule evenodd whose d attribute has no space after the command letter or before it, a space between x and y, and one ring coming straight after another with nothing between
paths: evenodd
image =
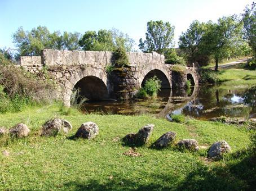
<instances>
[{"instance_id":1,"label":"tree cluster rising behind the far left end of the bridge","mask_svg":"<svg viewBox=\"0 0 256 191\"><path fill-rule=\"evenodd\" d=\"M77 49L80 36L81 34L77 32L64 32L63 35L60 31L50 33L46 26L38 26L31 31L24 31L20 27L12 38L17 47L17 57L19 57L39 56L42 49Z\"/></svg>"}]
</instances>

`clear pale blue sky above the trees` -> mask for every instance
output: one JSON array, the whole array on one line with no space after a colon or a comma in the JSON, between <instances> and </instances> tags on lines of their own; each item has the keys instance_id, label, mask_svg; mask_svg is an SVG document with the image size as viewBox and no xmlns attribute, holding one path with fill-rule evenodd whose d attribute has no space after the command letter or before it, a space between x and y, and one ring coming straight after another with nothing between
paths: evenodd
<instances>
[{"instance_id":1,"label":"clear pale blue sky above the trees","mask_svg":"<svg viewBox=\"0 0 256 191\"><path fill-rule=\"evenodd\" d=\"M175 26L175 42L193 20L217 21L242 13L253 0L0 0L0 48L11 47L19 26L31 30L46 26L55 30L84 33L116 28L138 44L149 20L169 21ZM137 48L137 47L135 47Z\"/></svg>"}]
</instances>

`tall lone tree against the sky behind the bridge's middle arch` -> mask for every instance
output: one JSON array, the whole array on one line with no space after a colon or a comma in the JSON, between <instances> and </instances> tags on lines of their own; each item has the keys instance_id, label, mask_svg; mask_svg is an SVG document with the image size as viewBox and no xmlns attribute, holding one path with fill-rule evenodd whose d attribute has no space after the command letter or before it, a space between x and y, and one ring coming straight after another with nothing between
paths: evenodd
<instances>
[{"instance_id":1,"label":"tall lone tree against the sky behind the bridge's middle arch","mask_svg":"<svg viewBox=\"0 0 256 191\"><path fill-rule=\"evenodd\" d=\"M174 46L174 26L169 22L149 21L145 36L146 40L139 40L139 49L143 52L156 51L162 54Z\"/></svg>"}]
</instances>

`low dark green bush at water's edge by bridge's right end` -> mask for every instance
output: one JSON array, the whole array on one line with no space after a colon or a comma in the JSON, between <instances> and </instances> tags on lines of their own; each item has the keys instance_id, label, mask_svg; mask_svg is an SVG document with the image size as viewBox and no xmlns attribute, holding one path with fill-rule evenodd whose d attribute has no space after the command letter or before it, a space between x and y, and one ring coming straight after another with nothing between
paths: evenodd
<instances>
[{"instance_id":1,"label":"low dark green bush at water's edge by bridge's right end","mask_svg":"<svg viewBox=\"0 0 256 191\"><path fill-rule=\"evenodd\" d=\"M211 69L200 69L200 83L217 83L219 80L217 72Z\"/></svg>"}]
</instances>

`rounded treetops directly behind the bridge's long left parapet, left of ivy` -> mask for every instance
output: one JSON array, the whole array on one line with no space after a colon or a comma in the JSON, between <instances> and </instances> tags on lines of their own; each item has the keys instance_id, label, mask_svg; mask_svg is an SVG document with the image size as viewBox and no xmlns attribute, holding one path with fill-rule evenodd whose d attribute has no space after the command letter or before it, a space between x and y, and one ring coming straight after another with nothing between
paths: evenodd
<instances>
[{"instance_id":1,"label":"rounded treetops directly behind the bridge's long left parapet, left of ivy","mask_svg":"<svg viewBox=\"0 0 256 191\"><path fill-rule=\"evenodd\" d=\"M79 42L84 51L115 51L118 47L132 50L134 40L117 29L86 31Z\"/></svg>"}]
</instances>

